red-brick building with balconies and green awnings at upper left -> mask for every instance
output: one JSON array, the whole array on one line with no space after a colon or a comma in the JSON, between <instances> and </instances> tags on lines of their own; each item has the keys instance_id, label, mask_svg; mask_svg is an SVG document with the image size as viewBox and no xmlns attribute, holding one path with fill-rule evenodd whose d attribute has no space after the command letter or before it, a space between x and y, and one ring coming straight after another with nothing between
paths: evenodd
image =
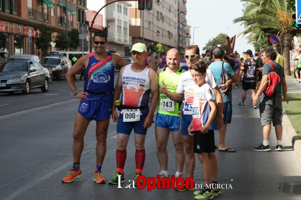
<instances>
[{"instance_id":1,"label":"red-brick building with balconies and green awnings at upper left","mask_svg":"<svg viewBox=\"0 0 301 200\"><path fill-rule=\"evenodd\" d=\"M77 21L85 22L86 0L0 0L0 52L13 54L35 54L38 27L42 24L52 30L52 40L59 32L77 28ZM80 15L77 16L77 12ZM67 18L66 18L67 16ZM29 29L32 42L29 42ZM54 49L54 42L51 48ZM30 52L29 52L30 49Z\"/></svg>"}]
</instances>

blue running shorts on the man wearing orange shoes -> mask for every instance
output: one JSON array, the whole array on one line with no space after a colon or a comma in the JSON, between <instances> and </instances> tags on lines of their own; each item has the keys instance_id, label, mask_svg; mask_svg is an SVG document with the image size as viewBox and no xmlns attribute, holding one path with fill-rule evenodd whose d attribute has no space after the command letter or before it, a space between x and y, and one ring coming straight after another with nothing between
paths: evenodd
<instances>
[{"instance_id":1,"label":"blue running shorts on the man wearing orange shoes","mask_svg":"<svg viewBox=\"0 0 301 200\"><path fill-rule=\"evenodd\" d=\"M105 120L111 116L112 102L101 99L87 99L79 103L78 113L87 120Z\"/></svg>"}]
</instances>

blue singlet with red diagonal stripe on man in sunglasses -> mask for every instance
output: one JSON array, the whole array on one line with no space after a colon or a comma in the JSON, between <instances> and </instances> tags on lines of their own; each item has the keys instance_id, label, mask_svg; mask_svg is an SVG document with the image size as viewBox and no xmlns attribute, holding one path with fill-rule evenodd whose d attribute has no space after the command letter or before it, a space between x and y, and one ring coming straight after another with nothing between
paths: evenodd
<instances>
[{"instance_id":1,"label":"blue singlet with red diagonal stripe on man in sunglasses","mask_svg":"<svg viewBox=\"0 0 301 200\"><path fill-rule=\"evenodd\" d=\"M89 53L89 62L86 68L86 78L84 83L84 90L91 92L107 92L107 94L93 95L89 94L88 99L103 99L112 101L114 90L114 72L112 54L107 52L105 60L97 60L94 53Z\"/></svg>"}]
</instances>

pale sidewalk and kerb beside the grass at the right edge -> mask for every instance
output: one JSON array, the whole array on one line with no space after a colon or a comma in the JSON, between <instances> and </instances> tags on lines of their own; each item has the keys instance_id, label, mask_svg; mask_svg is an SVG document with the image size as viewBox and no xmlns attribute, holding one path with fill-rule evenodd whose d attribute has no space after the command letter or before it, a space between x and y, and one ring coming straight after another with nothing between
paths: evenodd
<instances>
[{"instance_id":1,"label":"pale sidewalk and kerb beside the grass at the right edge","mask_svg":"<svg viewBox=\"0 0 301 200\"><path fill-rule=\"evenodd\" d=\"M296 79L293 76L285 77L285 79L286 79L286 83L287 83L287 93L288 94L292 94L292 93L300 94L299 98L295 99L294 101L299 101L300 106L301 106L301 83L296 83ZM286 102L283 102L283 105L285 103ZM292 141L292 146L293 146L294 152L297 156L299 166L301 168L301 140L298 137L296 130L293 128L293 125L284 109L283 109L283 113L282 113L282 125L283 125L283 128L286 130L288 137Z\"/></svg>"}]
</instances>

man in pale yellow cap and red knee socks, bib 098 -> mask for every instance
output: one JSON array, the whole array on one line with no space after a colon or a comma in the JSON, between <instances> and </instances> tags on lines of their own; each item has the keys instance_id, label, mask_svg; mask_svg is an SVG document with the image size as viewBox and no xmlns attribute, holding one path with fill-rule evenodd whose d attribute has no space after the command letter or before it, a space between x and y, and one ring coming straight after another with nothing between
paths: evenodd
<instances>
[{"instance_id":1,"label":"man in pale yellow cap and red knee socks, bib 098","mask_svg":"<svg viewBox=\"0 0 301 200\"><path fill-rule=\"evenodd\" d=\"M137 184L137 177L142 174L145 161L144 142L147 128L153 123L154 111L158 103L158 76L153 69L147 68L145 65L144 59L147 56L145 44L134 44L130 52L132 52L134 63L120 69L113 93L113 101L118 100L121 94L122 105L119 117L115 111L116 106L113 104L112 107L112 119L114 122L118 122L117 169L109 180L110 184L118 184L118 175L121 175L120 182L124 182L123 168L126 162L126 146L132 129L135 133L136 147L136 173L133 180ZM150 93L152 95L151 108L148 107Z\"/></svg>"}]
</instances>

